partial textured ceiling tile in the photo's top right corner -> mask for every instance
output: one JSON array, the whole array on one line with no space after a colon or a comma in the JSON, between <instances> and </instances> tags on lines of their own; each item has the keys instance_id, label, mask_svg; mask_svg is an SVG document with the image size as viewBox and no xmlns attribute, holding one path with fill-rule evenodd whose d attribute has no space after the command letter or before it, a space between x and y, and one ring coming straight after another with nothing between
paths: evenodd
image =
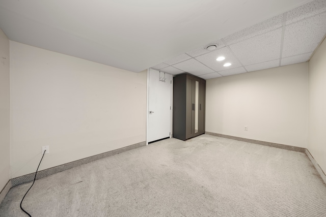
<instances>
[{"instance_id":1,"label":"partial textured ceiling tile in the photo's top right corner","mask_svg":"<svg viewBox=\"0 0 326 217\"><path fill-rule=\"evenodd\" d=\"M286 25L317 15L326 11L325 0L315 0L303 6L297 7L289 12L286 16Z\"/></svg>"}]
</instances>

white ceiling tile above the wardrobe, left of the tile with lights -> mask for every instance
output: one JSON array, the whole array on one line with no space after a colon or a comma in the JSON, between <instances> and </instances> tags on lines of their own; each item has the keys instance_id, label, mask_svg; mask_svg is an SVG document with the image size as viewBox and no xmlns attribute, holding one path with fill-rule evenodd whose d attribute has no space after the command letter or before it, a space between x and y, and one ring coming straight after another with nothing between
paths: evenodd
<instances>
[{"instance_id":1,"label":"white ceiling tile above the wardrobe, left of the tile with lights","mask_svg":"<svg viewBox=\"0 0 326 217\"><path fill-rule=\"evenodd\" d=\"M197 61L196 59L188 59L186 61L173 65L173 67L193 75L203 75L214 72L205 65L199 63L199 61Z\"/></svg>"}]
</instances>

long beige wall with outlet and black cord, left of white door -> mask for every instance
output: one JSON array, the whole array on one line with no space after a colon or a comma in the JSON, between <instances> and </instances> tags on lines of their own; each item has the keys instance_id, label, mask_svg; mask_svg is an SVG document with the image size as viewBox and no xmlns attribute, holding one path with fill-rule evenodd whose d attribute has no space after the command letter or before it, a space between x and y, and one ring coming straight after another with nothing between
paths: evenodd
<instances>
[{"instance_id":1,"label":"long beige wall with outlet and black cord, left of white door","mask_svg":"<svg viewBox=\"0 0 326 217\"><path fill-rule=\"evenodd\" d=\"M146 140L146 71L10 41L11 176ZM128 61L128 59L126 59Z\"/></svg>"}]
</instances>

